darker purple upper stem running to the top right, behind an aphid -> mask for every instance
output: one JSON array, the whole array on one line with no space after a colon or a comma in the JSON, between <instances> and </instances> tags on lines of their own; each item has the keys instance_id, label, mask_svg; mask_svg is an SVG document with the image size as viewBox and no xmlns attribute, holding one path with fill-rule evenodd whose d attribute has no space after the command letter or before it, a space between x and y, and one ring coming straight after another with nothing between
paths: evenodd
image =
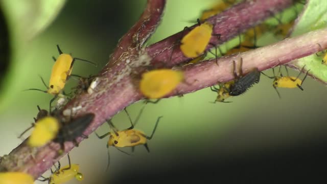
<instances>
[{"instance_id":1,"label":"darker purple upper stem running to the top right, behind an aphid","mask_svg":"<svg viewBox=\"0 0 327 184\"><path fill-rule=\"evenodd\" d=\"M227 11L207 19L208 22L215 25L213 33L221 34L220 40L218 40L217 36L212 36L210 42L215 45L220 45L236 37L239 33L260 24L263 20L271 17L273 13L290 7L292 3L293 0L248 0L233 6ZM195 26L198 25L194 25L190 28L192 29ZM153 57L152 64L171 67L190 60L190 58L186 58L179 49L179 40L188 32L189 31L178 32L150 45L147 51L150 56ZM209 44L206 50L212 47L213 46Z\"/></svg>"}]
</instances>

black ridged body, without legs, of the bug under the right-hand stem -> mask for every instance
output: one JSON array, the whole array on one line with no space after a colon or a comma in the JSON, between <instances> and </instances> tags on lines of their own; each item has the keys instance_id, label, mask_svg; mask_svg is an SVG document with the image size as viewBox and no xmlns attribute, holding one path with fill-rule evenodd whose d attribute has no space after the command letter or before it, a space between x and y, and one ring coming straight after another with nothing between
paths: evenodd
<instances>
[{"instance_id":1,"label":"black ridged body, without legs, of the bug under the right-hand stem","mask_svg":"<svg viewBox=\"0 0 327 184\"><path fill-rule=\"evenodd\" d=\"M253 84L260 81L260 72L256 69L253 72L240 78L232 85L229 91L230 96L238 96L245 93Z\"/></svg>"}]
</instances>

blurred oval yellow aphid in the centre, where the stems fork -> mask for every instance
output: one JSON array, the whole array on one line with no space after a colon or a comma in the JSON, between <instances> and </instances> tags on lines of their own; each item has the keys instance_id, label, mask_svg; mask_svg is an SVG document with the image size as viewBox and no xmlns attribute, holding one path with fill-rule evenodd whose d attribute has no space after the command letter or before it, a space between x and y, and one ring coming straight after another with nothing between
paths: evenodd
<instances>
[{"instance_id":1,"label":"blurred oval yellow aphid in the centre, where the stems fork","mask_svg":"<svg viewBox=\"0 0 327 184\"><path fill-rule=\"evenodd\" d=\"M162 98L171 93L184 80L183 72L159 69L142 74L139 89L150 99Z\"/></svg>"}]
</instances>

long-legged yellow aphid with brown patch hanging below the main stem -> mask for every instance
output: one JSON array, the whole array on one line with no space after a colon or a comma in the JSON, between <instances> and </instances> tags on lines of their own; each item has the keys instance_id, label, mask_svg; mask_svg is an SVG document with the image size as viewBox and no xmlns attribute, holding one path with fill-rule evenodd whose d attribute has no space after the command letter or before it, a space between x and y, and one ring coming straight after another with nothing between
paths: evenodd
<instances>
[{"instance_id":1,"label":"long-legged yellow aphid with brown patch hanging below the main stem","mask_svg":"<svg viewBox=\"0 0 327 184\"><path fill-rule=\"evenodd\" d=\"M134 126L136 125L139 117L141 116L143 109L144 109L145 105L143 106L143 108L139 111L134 124L132 122L132 119L129 116L129 113L127 112L126 108L124 109L128 119L131 123L131 127L125 129L125 130L118 130L111 122L111 120L107 120L107 123L110 126L110 129L112 131L105 133L104 135L99 136L97 133L96 135L98 136L99 139L103 139L104 137L106 137L107 135L109 136L109 140L107 143L107 149L109 148L109 146L113 146L115 148L124 148L124 147L132 147L132 151L134 151L134 146L137 145L144 145L144 147L147 149L148 152L150 152L147 141L151 140L155 130L157 129L158 123L160 118L162 118L162 116L158 117L156 124L154 126L154 129L152 131L152 134L150 136L147 136L143 131L141 130L136 130L134 129ZM118 149L121 152L124 152L120 149ZM124 152L126 153L126 152ZM126 153L128 154L128 153ZM109 160L110 160L110 156L109 156L109 149L108 149L108 165L107 165L107 170L109 168Z\"/></svg>"}]
</instances>

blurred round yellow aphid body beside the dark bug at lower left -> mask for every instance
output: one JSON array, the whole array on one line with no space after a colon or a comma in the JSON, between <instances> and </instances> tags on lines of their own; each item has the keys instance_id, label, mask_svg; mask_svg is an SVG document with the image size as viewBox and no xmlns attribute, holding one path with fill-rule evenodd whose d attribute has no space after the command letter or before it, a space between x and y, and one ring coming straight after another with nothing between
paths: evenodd
<instances>
[{"instance_id":1,"label":"blurred round yellow aphid body beside the dark bug at lower left","mask_svg":"<svg viewBox=\"0 0 327 184\"><path fill-rule=\"evenodd\" d=\"M40 147L53 140L60 128L59 122L54 117L45 117L37 121L34 130L28 139L31 147Z\"/></svg>"}]
</instances>

